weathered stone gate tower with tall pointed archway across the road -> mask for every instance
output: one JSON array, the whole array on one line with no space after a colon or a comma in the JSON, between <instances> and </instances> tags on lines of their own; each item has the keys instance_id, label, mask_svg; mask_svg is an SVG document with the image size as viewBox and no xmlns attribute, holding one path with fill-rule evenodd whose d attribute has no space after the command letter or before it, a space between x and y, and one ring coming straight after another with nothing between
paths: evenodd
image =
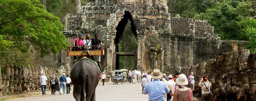
<instances>
[{"instance_id":1,"label":"weathered stone gate tower with tall pointed archway across the road","mask_svg":"<svg viewBox=\"0 0 256 101\"><path fill-rule=\"evenodd\" d=\"M138 43L138 70L173 72L177 57L180 65L192 66L235 50L235 43L220 41L207 21L173 18L166 4L167 0L88 0L80 14L67 14L63 33L70 42L78 33L99 33L106 49L102 66L108 72L128 20ZM223 47L227 49L220 51Z\"/></svg>"}]
</instances>

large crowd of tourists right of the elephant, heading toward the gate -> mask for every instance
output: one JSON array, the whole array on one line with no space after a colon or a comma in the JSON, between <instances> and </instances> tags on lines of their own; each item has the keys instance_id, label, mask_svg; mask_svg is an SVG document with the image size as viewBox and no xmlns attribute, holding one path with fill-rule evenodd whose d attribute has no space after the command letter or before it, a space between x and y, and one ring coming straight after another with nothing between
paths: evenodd
<instances>
[{"instance_id":1,"label":"large crowd of tourists right of the elephant, heading toward the gate","mask_svg":"<svg viewBox=\"0 0 256 101\"><path fill-rule=\"evenodd\" d=\"M112 73L112 77L114 77L115 74L114 72ZM154 69L152 73L129 70L128 74L126 71L123 71L122 75L123 83L130 82L136 84L140 82L142 94L148 94L149 101L164 101L165 98L167 101L193 101L195 85L193 72L188 76L179 72L175 75L170 74L167 76L165 73L161 73L159 69ZM106 79L105 76L101 75L100 79ZM208 81L207 75L201 78L198 86L201 87L202 101L209 101L211 97L211 83Z\"/></svg>"}]
</instances>

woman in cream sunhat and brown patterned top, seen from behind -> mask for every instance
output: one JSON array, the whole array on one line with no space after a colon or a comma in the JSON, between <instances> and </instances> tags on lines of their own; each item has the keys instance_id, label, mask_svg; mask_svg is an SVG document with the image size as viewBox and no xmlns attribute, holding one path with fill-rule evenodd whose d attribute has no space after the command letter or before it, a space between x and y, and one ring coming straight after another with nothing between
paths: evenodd
<instances>
[{"instance_id":1,"label":"woman in cream sunhat and brown patterned top, seen from behind","mask_svg":"<svg viewBox=\"0 0 256 101\"><path fill-rule=\"evenodd\" d=\"M175 90L173 101L193 101L192 90L187 87L188 81L185 74L180 74L176 79L178 89Z\"/></svg>"}]
</instances>

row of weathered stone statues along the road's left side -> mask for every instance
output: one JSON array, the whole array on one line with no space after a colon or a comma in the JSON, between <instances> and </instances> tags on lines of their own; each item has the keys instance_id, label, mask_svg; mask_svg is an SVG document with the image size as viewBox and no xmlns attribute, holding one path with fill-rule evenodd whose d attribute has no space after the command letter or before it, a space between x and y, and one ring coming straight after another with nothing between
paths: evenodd
<instances>
[{"instance_id":1,"label":"row of weathered stone statues along the road's left side","mask_svg":"<svg viewBox=\"0 0 256 101\"><path fill-rule=\"evenodd\" d=\"M1 68L1 66L0 66ZM53 68L17 66L7 64L4 74L0 72L0 96L26 92L40 92L40 76L47 76L47 89L50 88L50 75L55 74ZM59 73L60 74L60 73ZM56 74L55 74L56 75Z\"/></svg>"}]
</instances>

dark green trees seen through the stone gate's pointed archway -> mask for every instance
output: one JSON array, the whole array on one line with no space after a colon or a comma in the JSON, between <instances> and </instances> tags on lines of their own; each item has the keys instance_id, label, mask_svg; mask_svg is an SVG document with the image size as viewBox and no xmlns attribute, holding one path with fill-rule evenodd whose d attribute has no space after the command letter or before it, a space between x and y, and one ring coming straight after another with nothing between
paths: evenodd
<instances>
[{"instance_id":1,"label":"dark green trees seen through the stone gate's pointed archway","mask_svg":"<svg viewBox=\"0 0 256 101\"><path fill-rule=\"evenodd\" d=\"M130 28L130 21L128 21L124 36L120 38L119 52L136 52L137 50L137 39ZM125 37L125 38L123 38ZM124 39L124 40L123 40ZM125 47L123 47L125 43ZM135 56L119 56L119 67L120 69L132 70L135 68Z\"/></svg>"}]
</instances>

